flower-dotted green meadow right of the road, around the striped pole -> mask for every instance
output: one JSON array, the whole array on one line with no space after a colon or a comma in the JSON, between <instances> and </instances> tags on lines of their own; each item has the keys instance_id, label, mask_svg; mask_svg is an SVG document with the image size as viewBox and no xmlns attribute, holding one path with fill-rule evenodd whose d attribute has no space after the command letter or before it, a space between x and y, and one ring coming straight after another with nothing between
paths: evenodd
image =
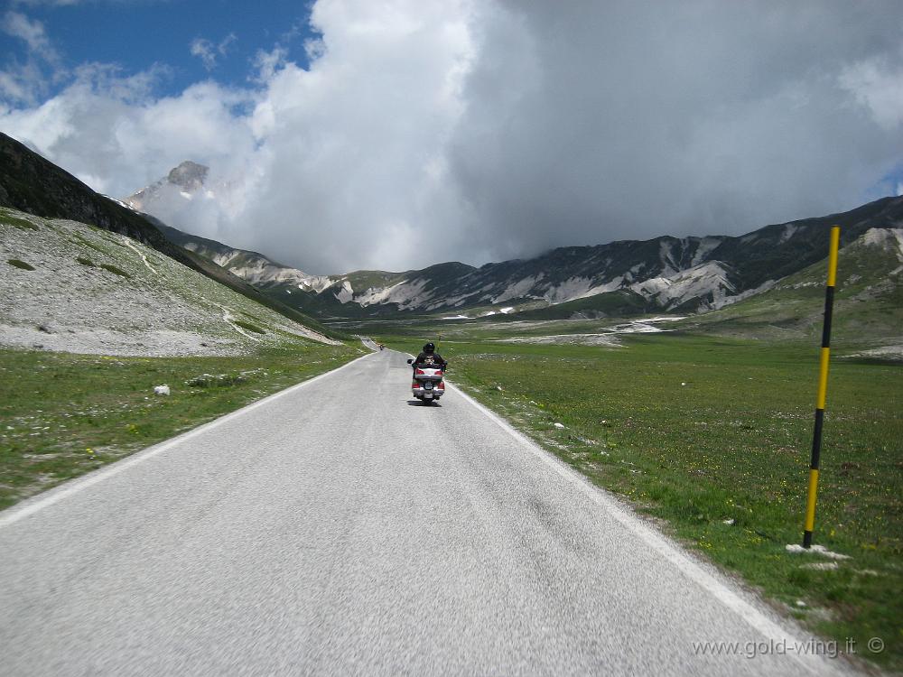
<instances>
[{"instance_id":1,"label":"flower-dotted green meadow right of the road, around the striped pole","mask_svg":"<svg viewBox=\"0 0 903 677\"><path fill-rule=\"evenodd\" d=\"M466 391L786 613L860 646L880 636L887 650L866 657L903 667L903 366L833 361L815 543L852 559L811 570L821 557L785 545L802 538L817 347L465 337L440 349ZM422 340L375 338L407 351Z\"/></svg>"}]
</instances>

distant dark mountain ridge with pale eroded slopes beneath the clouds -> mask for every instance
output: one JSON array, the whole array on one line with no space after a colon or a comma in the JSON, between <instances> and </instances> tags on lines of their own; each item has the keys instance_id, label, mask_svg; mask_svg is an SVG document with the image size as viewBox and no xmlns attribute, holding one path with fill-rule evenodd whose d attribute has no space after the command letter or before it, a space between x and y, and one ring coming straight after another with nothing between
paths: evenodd
<instances>
[{"instance_id":1,"label":"distant dark mountain ridge with pale eroded slopes beneath the clouds","mask_svg":"<svg viewBox=\"0 0 903 677\"><path fill-rule=\"evenodd\" d=\"M203 172L188 173L194 182L186 190L204 190ZM172 172L161 181L177 182ZM148 191L153 192L144 189L135 195ZM154 211L153 199L142 204ZM885 198L842 214L762 227L744 236L661 236L560 247L535 258L479 268L452 262L404 273L356 271L323 276L175 228L161 229L173 243L209 257L273 298L321 318L396 313L478 317L513 312L568 318L717 310L768 290L824 258L832 225L842 226L842 242L848 244L871 227L901 224L903 198Z\"/></svg>"}]
</instances>

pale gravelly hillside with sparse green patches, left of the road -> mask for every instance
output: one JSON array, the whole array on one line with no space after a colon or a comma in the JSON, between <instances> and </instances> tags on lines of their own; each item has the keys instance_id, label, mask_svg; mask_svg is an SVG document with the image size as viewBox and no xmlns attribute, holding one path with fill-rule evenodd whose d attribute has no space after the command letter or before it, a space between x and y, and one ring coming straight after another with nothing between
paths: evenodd
<instances>
[{"instance_id":1,"label":"pale gravelly hillside with sparse green patches, left of the road","mask_svg":"<svg viewBox=\"0 0 903 677\"><path fill-rule=\"evenodd\" d=\"M139 356L334 342L132 238L0 209L0 345Z\"/></svg>"}]
</instances>

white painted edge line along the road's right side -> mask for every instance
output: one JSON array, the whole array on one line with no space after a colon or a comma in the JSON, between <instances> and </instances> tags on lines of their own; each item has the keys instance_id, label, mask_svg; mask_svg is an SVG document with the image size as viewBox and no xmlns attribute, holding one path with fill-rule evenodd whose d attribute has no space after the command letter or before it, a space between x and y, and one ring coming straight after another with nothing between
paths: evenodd
<instances>
[{"instance_id":1,"label":"white painted edge line along the road's right side","mask_svg":"<svg viewBox=\"0 0 903 677\"><path fill-rule=\"evenodd\" d=\"M476 407L480 412L496 422L498 426L506 431L511 437L524 445L537 458L545 462L550 468L561 475L564 479L571 482L582 493L589 496L592 501L605 508L620 524L626 526L631 532L636 533L643 543L661 554L667 561L673 563L684 576L693 580L701 588L705 589L712 597L718 599L725 607L728 607L745 620L749 626L759 632L768 640L774 641L776 645L782 643L787 647L787 655L796 658L797 663L802 665L807 672L816 675L824 674L846 674L847 672L838 669L837 665L829 663L823 656L816 656L801 651L795 651L795 647L809 645L808 640L800 640L796 635L788 633L787 630L777 624L774 620L766 616L758 607L751 604L746 599L730 589L721 580L718 580L711 571L707 571L703 566L694 561L686 552L683 552L675 543L671 543L666 536L658 533L655 529L645 524L637 515L633 515L627 507L620 505L619 501L612 496L604 493L600 487L591 484L590 480L584 478L573 468L564 465L563 461L556 459L550 451L546 451L540 447L535 441L527 437L523 432L518 431L510 423L505 421L497 413L488 407L480 404L469 394L461 390L460 387L454 385L446 379L445 383L451 389L460 394L461 397Z\"/></svg>"}]
</instances>

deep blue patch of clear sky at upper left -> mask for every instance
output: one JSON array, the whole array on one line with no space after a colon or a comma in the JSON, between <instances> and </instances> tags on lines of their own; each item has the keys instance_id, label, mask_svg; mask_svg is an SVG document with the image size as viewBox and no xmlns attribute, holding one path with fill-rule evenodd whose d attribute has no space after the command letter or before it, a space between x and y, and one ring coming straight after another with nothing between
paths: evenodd
<instances>
[{"instance_id":1,"label":"deep blue patch of clear sky at upper left","mask_svg":"<svg viewBox=\"0 0 903 677\"><path fill-rule=\"evenodd\" d=\"M235 2L209 0L95 0L71 5L8 4L8 9L42 23L61 65L74 69L98 61L121 67L126 75L166 68L158 93L173 96L202 79L248 87L258 51L281 46L290 60L307 67L304 42L317 37L310 26L310 5L284 0ZM262 8L265 8L262 10ZM205 64L196 51L213 57ZM23 40L3 36L5 60L28 59ZM59 89L56 82L51 89Z\"/></svg>"}]
</instances>

